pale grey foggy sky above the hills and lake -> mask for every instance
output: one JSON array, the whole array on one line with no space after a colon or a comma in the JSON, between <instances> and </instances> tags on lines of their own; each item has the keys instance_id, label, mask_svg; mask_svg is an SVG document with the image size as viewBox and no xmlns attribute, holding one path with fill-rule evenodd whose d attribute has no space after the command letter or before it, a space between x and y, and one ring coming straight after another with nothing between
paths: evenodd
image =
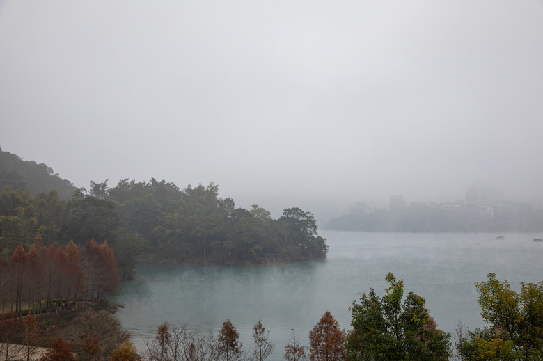
<instances>
[{"instance_id":1,"label":"pale grey foggy sky above the hills and lake","mask_svg":"<svg viewBox=\"0 0 543 361\"><path fill-rule=\"evenodd\" d=\"M0 0L0 145L337 216L543 204L543 1Z\"/></svg>"}]
</instances>

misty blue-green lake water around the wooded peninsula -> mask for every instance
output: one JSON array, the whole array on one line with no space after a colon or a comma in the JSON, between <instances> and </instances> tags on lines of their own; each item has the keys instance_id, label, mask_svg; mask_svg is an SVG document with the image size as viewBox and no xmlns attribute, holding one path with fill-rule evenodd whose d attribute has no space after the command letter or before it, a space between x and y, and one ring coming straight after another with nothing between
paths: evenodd
<instances>
[{"instance_id":1,"label":"misty blue-green lake water around the wooded peninsula","mask_svg":"<svg viewBox=\"0 0 543 361\"><path fill-rule=\"evenodd\" d=\"M124 282L113 298L122 303L116 314L132 332L140 351L157 326L189 322L217 332L230 319L244 348L260 319L276 346L269 360L281 360L294 332L308 344L308 332L327 310L349 330L353 300L375 289L383 296L385 275L404 280L404 293L427 301L441 330L455 330L459 319L471 330L484 326L474 283L489 272L519 282L543 280L541 234L405 234L331 232L320 234L329 244L322 261L276 266L138 266L136 280ZM294 330L294 331L293 331Z\"/></svg>"}]
</instances>

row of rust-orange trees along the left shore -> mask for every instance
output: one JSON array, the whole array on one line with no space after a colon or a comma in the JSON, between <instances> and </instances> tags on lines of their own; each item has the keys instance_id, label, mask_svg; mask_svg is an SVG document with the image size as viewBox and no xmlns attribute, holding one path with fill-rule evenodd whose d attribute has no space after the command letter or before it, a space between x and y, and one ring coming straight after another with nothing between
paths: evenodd
<instances>
[{"instance_id":1,"label":"row of rust-orange trees along the left shore","mask_svg":"<svg viewBox=\"0 0 543 361\"><path fill-rule=\"evenodd\" d=\"M116 294L119 284L117 259L105 241L88 241L81 255L72 240L67 246L45 247L40 234L28 252L19 244L8 263L0 258L0 273L1 319L21 319L23 303L35 315L58 312L80 294L100 303L105 294Z\"/></svg>"}]
</instances>

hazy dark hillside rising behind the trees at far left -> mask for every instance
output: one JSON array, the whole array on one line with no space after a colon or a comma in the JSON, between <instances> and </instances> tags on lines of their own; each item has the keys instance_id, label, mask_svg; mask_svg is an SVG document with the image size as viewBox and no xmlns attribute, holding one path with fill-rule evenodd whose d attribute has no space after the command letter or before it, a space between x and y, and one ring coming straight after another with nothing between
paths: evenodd
<instances>
[{"instance_id":1,"label":"hazy dark hillside rising behind the trees at far left","mask_svg":"<svg viewBox=\"0 0 543 361\"><path fill-rule=\"evenodd\" d=\"M11 186L13 190L26 189L31 195L55 190L61 200L68 200L74 193L72 182L61 179L52 168L34 161L23 161L16 154L3 152L0 147L0 189Z\"/></svg>"}]
</instances>

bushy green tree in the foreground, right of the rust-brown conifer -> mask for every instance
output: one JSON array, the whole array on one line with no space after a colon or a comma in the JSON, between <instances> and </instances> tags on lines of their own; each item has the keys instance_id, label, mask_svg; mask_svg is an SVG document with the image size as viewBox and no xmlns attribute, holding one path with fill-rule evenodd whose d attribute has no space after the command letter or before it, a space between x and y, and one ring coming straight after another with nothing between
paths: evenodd
<instances>
[{"instance_id":1,"label":"bushy green tree in the foreground, right of the rust-brown conifer","mask_svg":"<svg viewBox=\"0 0 543 361\"><path fill-rule=\"evenodd\" d=\"M450 335L437 328L425 299L409 292L403 300L403 281L386 275L389 287L379 298L373 289L352 303L352 330L347 335L347 358L361 360L447 360Z\"/></svg>"}]
</instances>

